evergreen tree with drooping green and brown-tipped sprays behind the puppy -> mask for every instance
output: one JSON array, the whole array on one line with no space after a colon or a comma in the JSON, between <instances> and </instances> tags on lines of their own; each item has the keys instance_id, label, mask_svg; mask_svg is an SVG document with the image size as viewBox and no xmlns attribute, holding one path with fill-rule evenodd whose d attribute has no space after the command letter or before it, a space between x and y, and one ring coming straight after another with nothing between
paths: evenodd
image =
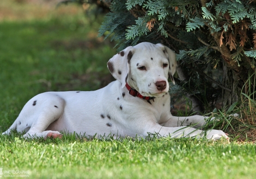
<instances>
[{"instance_id":1,"label":"evergreen tree with drooping green and brown-tipped sprays behind the puppy","mask_svg":"<svg viewBox=\"0 0 256 179\"><path fill-rule=\"evenodd\" d=\"M205 102L220 97L223 105L239 101L243 85L255 71L255 0L103 3L110 4L111 11L99 35L117 41L118 50L143 41L162 43L177 54L181 68L176 81L185 91Z\"/></svg>"}]
</instances>

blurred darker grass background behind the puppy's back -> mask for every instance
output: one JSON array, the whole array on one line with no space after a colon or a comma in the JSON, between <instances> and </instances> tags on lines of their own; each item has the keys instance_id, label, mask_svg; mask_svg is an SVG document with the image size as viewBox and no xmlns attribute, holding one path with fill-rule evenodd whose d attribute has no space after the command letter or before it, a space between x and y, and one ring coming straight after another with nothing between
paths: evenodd
<instances>
[{"instance_id":1,"label":"blurred darker grass background behind the puppy's back","mask_svg":"<svg viewBox=\"0 0 256 179\"><path fill-rule=\"evenodd\" d=\"M103 16L59 2L0 2L1 129L38 93L90 91L114 80L106 65L114 44L97 37Z\"/></svg>"}]
</instances>

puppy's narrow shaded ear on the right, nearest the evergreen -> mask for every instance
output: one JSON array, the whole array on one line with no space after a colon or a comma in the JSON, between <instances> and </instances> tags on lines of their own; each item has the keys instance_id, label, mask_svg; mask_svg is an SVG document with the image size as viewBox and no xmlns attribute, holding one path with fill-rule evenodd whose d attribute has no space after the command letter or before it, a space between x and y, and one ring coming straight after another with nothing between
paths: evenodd
<instances>
[{"instance_id":1,"label":"puppy's narrow shaded ear on the right, nearest the evergreen","mask_svg":"<svg viewBox=\"0 0 256 179\"><path fill-rule=\"evenodd\" d=\"M170 80L172 80L173 84L175 84L173 75L176 72L176 67L177 67L176 54L175 52L173 52L173 50L169 49L166 46L163 46L163 44L161 43L157 43L156 45L162 49L164 55L166 55L169 61L169 78Z\"/></svg>"}]
</instances>

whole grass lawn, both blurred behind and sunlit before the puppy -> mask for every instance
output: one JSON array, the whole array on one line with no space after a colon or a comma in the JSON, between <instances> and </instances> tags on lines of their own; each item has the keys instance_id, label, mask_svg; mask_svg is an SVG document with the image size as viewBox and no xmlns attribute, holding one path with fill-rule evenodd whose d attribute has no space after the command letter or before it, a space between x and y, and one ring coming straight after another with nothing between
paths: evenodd
<instances>
[{"instance_id":1,"label":"whole grass lawn, both blurred behind and sunlit before the puppy","mask_svg":"<svg viewBox=\"0 0 256 179\"><path fill-rule=\"evenodd\" d=\"M45 91L94 90L111 78L113 44L97 38L101 17L81 7L0 2L0 130ZM47 2L47 1L46 1ZM0 135L0 177L255 178L256 145L232 140L29 139ZM27 172L28 171L28 172Z\"/></svg>"}]
</instances>

